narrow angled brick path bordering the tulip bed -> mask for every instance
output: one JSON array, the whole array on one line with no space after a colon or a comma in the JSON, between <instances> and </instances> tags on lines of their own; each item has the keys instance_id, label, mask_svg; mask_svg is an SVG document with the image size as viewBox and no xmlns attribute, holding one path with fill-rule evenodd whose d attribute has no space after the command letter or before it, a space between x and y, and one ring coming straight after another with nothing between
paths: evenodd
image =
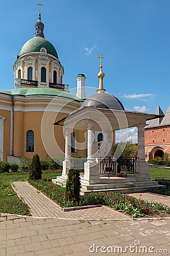
<instances>
[{"instance_id":1,"label":"narrow angled brick path bordering the tulip bed","mask_svg":"<svg viewBox=\"0 0 170 256\"><path fill-rule=\"evenodd\" d=\"M129 218L129 216L108 207L96 207L63 212L63 210L57 207L57 205L48 197L42 193L37 193L37 189L32 187L27 181L15 181L13 185L18 196L28 204L32 216L35 217L76 218L82 220Z\"/></svg>"}]
</instances>

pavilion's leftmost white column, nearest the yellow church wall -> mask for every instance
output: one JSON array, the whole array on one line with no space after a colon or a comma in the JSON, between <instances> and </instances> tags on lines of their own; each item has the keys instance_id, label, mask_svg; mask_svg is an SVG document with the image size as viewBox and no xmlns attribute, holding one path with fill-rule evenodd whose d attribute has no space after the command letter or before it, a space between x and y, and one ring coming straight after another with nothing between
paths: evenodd
<instances>
[{"instance_id":1,"label":"pavilion's leftmost white column, nearest the yellow church wall","mask_svg":"<svg viewBox=\"0 0 170 256\"><path fill-rule=\"evenodd\" d=\"M63 161L62 176L68 174L71 167L71 129L65 130L65 160Z\"/></svg>"}]
</instances>

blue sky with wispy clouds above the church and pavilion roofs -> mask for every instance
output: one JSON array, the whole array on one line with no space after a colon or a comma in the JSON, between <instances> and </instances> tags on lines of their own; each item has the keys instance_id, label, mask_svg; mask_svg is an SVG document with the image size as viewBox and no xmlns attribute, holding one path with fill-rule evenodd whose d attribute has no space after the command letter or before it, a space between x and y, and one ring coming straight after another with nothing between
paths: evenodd
<instances>
[{"instance_id":1,"label":"blue sky with wispy clouds above the church and pavilion roofs","mask_svg":"<svg viewBox=\"0 0 170 256\"><path fill-rule=\"evenodd\" d=\"M12 67L23 44L33 37L38 1L2 1L1 89L14 87ZM63 82L97 87L102 53L104 88L126 110L165 113L170 91L169 0L43 0L45 38L56 47L65 68Z\"/></svg>"}]
</instances>

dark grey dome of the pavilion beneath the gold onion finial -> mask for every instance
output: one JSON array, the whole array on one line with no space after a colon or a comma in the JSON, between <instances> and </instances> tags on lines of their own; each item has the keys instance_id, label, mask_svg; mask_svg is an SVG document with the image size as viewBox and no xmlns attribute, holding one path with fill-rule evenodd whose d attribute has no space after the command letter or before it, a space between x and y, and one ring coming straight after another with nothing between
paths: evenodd
<instances>
[{"instance_id":1,"label":"dark grey dome of the pavilion beneath the gold onion finial","mask_svg":"<svg viewBox=\"0 0 170 256\"><path fill-rule=\"evenodd\" d=\"M96 93L89 98L87 98L80 108L98 108L98 109L113 109L113 110L125 110L124 106L114 97L112 94L108 93Z\"/></svg>"}]
</instances>

